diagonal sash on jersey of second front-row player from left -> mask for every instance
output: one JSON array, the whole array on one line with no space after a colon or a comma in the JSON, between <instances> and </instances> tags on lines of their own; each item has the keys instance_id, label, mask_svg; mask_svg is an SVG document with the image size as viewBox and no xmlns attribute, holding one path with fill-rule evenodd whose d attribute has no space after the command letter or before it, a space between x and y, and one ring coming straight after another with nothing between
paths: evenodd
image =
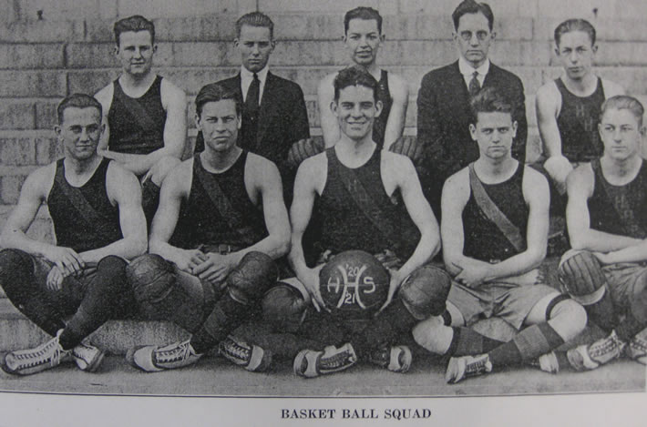
<instances>
[{"instance_id":1,"label":"diagonal sash on jersey of second front-row player from left","mask_svg":"<svg viewBox=\"0 0 647 427\"><path fill-rule=\"evenodd\" d=\"M198 178L202 187L211 198L211 203L214 208L218 209L222 219L227 221L227 224L241 236L242 241L247 246L252 246L254 243L262 239L262 235L256 232L251 226L246 226L241 221L241 213L238 212L231 205L231 201L225 193L222 191L221 186L218 184L216 178L212 177L204 168L201 166L200 154L196 154L193 161L193 168L198 168L196 170Z\"/></svg>"}]
</instances>

